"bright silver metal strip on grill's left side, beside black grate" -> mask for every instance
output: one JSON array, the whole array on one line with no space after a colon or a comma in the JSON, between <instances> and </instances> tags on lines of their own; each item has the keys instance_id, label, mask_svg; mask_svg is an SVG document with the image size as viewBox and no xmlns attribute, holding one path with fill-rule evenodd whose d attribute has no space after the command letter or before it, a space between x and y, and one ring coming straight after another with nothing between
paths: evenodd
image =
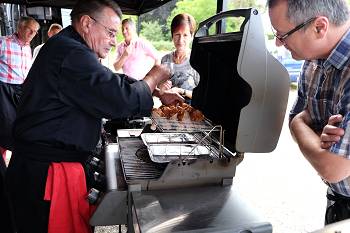
<instances>
[{"instance_id":1,"label":"bright silver metal strip on grill's left side, beside black grate","mask_svg":"<svg viewBox=\"0 0 350 233\"><path fill-rule=\"evenodd\" d=\"M118 143L109 143L105 147L105 162L106 162L106 179L107 190L118 189L117 182L117 166L115 165L116 159L120 157L120 149Z\"/></svg>"}]
</instances>

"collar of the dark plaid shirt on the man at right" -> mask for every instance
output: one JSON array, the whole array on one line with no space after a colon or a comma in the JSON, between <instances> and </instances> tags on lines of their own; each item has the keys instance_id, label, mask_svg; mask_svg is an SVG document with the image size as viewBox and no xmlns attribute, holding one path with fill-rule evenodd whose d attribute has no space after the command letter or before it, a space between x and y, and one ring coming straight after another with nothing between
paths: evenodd
<instances>
[{"instance_id":1,"label":"collar of the dark plaid shirt on the man at right","mask_svg":"<svg viewBox=\"0 0 350 233\"><path fill-rule=\"evenodd\" d=\"M331 52L329 57L324 61L323 67L325 69L334 66L337 69L342 69L350 59L350 30L348 30L343 38L339 41L335 49ZM317 62L318 65L320 64Z\"/></svg>"}]
</instances>

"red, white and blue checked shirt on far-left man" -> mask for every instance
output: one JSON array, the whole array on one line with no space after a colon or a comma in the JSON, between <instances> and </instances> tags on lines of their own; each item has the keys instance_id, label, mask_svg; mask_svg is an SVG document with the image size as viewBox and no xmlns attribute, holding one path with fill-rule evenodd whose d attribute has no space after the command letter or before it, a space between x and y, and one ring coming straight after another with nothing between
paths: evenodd
<instances>
[{"instance_id":1,"label":"red, white and blue checked shirt on far-left man","mask_svg":"<svg viewBox=\"0 0 350 233\"><path fill-rule=\"evenodd\" d=\"M19 41L17 34L0 37L0 81L22 84L32 65L29 44Z\"/></svg>"}]
</instances>

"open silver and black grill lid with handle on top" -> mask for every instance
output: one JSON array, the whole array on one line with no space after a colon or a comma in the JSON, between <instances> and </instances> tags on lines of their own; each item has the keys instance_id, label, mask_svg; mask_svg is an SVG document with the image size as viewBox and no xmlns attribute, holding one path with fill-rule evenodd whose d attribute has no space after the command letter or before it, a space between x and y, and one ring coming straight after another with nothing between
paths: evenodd
<instances>
[{"instance_id":1,"label":"open silver and black grill lid with handle on top","mask_svg":"<svg viewBox=\"0 0 350 233\"><path fill-rule=\"evenodd\" d=\"M240 31L209 34L212 25L229 17L244 18ZM222 125L225 146L232 152L271 152L282 129L289 77L266 49L258 11L232 10L202 22L190 62L201 77L191 104Z\"/></svg>"}]
</instances>

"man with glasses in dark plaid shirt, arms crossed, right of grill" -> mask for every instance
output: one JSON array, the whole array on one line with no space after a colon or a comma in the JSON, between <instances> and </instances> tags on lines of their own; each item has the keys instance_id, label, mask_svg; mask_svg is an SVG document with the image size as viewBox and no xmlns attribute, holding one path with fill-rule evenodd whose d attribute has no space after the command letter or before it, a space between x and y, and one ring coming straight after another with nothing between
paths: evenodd
<instances>
[{"instance_id":1,"label":"man with glasses in dark plaid shirt, arms crossed, right of grill","mask_svg":"<svg viewBox=\"0 0 350 233\"><path fill-rule=\"evenodd\" d=\"M328 184L325 223L350 217L350 20L345 0L269 0L276 45L305 59L290 130L304 157ZM340 140L325 148L321 132L342 114ZM333 122L330 122L332 124Z\"/></svg>"}]
</instances>

